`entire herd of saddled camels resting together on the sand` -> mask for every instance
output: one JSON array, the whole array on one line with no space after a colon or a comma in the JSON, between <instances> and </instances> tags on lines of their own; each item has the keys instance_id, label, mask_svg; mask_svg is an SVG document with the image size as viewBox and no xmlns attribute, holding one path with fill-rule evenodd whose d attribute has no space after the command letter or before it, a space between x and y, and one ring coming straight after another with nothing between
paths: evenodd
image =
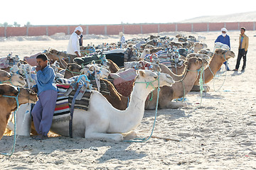
<instances>
[{"instance_id":1,"label":"entire herd of saddled camels resting together on the sand","mask_svg":"<svg viewBox=\"0 0 256 170\"><path fill-rule=\"evenodd\" d=\"M211 52L195 37L184 35L133 38L127 40L122 49L119 43L112 43L81 47L81 50L85 56L78 59L54 49L43 53L55 70L56 84L69 84L72 90L80 86L83 93L90 92L88 110L74 109L73 137L112 140L123 140L124 134L136 136L134 130L141 123L144 110L155 109L156 104L161 109L186 107L186 103L174 102L174 99L184 98L189 91L201 89L201 72L204 72L203 82L208 83L223 62L235 57L234 52L221 48ZM0 139L6 125L13 130L11 112L16 109L17 134L31 135L35 132L31 118L25 113L31 111L28 103L38 100L30 90L36 83L36 55L24 60L4 68L8 72L0 70ZM159 96L158 88L161 89ZM67 91L65 94L68 96ZM70 120L54 121L50 131L68 137L69 125Z\"/></svg>"}]
</instances>

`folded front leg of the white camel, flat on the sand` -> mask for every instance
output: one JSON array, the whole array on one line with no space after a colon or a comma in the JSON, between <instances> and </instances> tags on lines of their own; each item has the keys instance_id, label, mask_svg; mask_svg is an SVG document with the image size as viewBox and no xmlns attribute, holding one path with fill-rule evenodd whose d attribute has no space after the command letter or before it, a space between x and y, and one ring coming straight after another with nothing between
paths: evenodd
<instances>
[{"instance_id":1,"label":"folded front leg of the white camel, flat on the sand","mask_svg":"<svg viewBox=\"0 0 256 170\"><path fill-rule=\"evenodd\" d=\"M123 136L120 133L101 133L85 131L85 138L107 138L111 140L122 141Z\"/></svg>"}]
</instances>

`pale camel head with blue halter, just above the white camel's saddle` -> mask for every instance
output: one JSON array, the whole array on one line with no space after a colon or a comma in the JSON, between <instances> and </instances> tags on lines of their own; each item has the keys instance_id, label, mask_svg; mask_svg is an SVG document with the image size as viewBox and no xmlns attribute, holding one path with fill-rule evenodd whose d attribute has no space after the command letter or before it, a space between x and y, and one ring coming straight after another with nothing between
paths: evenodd
<instances>
[{"instance_id":1,"label":"pale camel head with blue halter, just above the white camel's saddle","mask_svg":"<svg viewBox=\"0 0 256 170\"><path fill-rule=\"evenodd\" d=\"M97 64L87 64L82 71L84 74L95 72L100 78L107 78L110 74L110 70L105 67L99 67Z\"/></svg>"}]
</instances>

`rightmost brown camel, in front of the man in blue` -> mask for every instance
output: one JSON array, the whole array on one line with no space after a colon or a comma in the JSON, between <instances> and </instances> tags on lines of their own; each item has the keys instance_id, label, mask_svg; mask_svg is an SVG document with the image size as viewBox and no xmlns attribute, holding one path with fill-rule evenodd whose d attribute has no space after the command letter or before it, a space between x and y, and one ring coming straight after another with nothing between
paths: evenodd
<instances>
[{"instance_id":1,"label":"rightmost brown camel, in front of the man in blue","mask_svg":"<svg viewBox=\"0 0 256 170\"><path fill-rule=\"evenodd\" d=\"M215 76L216 72L220 70L223 62L226 60L235 57L235 53L230 50L222 50L217 49L214 52L212 60L210 60L209 66L204 71L203 82L206 84L208 83L213 77ZM195 86L193 87L193 91L198 91L198 87L196 85L199 84L199 77L195 81Z\"/></svg>"}]
</instances>

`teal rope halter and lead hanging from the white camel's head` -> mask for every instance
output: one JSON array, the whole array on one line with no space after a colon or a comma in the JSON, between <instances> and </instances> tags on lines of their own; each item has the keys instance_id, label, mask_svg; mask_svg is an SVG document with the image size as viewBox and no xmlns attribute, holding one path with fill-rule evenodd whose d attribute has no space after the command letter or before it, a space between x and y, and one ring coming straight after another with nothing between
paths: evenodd
<instances>
[{"instance_id":1,"label":"teal rope halter and lead hanging from the white camel's head","mask_svg":"<svg viewBox=\"0 0 256 170\"><path fill-rule=\"evenodd\" d=\"M156 99L156 113L155 113L155 118L154 118L154 124L153 124L153 128L151 130L151 134L149 135L149 137L144 137L144 138L135 138L134 140L124 140L123 142L146 142L148 141L151 136L153 135L153 132L154 132L154 127L156 125L156 115L157 115L157 109L158 109L158 106L159 106L159 91L160 91L160 82L159 82L159 75L160 75L160 72L158 73L158 78L155 79L154 81L158 81L158 86L157 86L157 99ZM153 86L152 82L154 81L149 81L149 82L135 82L135 83L145 83L146 84L146 88L149 86L149 84L151 86ZM154 88L154 86L153 86ZM155 88L154 88L155 89Z\"/></svg>"}]
</instances>

